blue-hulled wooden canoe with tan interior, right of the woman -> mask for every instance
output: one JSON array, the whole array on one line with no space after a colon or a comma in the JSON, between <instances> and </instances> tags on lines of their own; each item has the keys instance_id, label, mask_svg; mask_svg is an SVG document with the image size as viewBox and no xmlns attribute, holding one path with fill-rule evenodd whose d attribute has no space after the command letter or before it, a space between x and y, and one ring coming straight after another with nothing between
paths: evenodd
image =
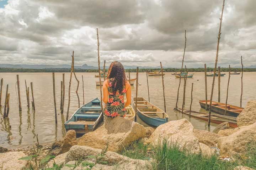
<instances>
[{"instance_id":1,"label":"blue-hulled wooden canoe with tan interior, right of the woman","mask_svg":"<svg viewBox=\"0 0 256 170\"><path fill-rule=\"evenodd\" d=\"M135 107L135 97L133 98L133 104ZM159 126L168 122L168 115L160 108L149 103L142 97L137 98L137 114L146 124L151 126Z\"/></svg>"}]
</instances>

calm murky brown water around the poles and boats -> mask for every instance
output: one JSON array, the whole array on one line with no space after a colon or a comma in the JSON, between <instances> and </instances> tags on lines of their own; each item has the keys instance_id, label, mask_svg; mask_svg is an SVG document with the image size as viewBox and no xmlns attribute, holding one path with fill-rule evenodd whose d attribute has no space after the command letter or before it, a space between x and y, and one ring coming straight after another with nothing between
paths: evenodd
<instances>
[{"instance_id":1,"label":"calm murky brown water around the poles and boats","mask_svg":"<svg viewBox=\"0 0 256 170\"><path fill-rule=\"evenodd\" d=\"M36 134L38 134L39 141L41 143L53 142L59 140L65 135L65 128L63 123L66 118L66 109L68 106L68 86L70 73L65 73L65 109L64 115L60 114L60 81L62 81L62 73L55 73L55 86L56 86L56 100L57 100L57 113L58 113L58 125L55 126L54 119L54 102L53 102L53 84L52 84L52 73L18 73L20 75L20 90L21 90L21 103L22 111L18 111L17 102L17 85L16 73L0 73L0 78L4 79L2 105L5 99L6 85L9 84L10 93L10 113L9 118L3 119L4 109L0 109L0 146L2 147L17 147L27 144L32 144L36 141ZM82 98L82 75L84 77L85 87L85 103L91 101L96 97L100 97L100 87L96 87L94 75L97 73L76 73L80 80L79 86L79 97L80 104L83 103ZM72 115L76 109L78 109L78 98L75 90L77 82L72 77L71 86L71 103L69 115ZM131 73L131 78L135 78L135 73ZM26 88L25 79L27 84L33 82L34 86L34 100L36 105L36 111L33 109L27 109L26 101ZM161 77L149 77L149 90L150 90L150 102L156 106L164 109L163 92L162 92L162 79ZM216 81L217 80L217 81ZM246 105L249 100L255 99L255 86L256 74L253 72L244 73L244 86L243 86L243 97L242 107ZM208 99L210 98L210 91L212 85L212 77L207 77L208 81ZM183 82L181 81L179 106L181 107L183 97ZM221 102L225 103L226 98L226 87L228 82L228 76L221 77ZM146 85L146 73L139 73L138 96L148 99L147 85ZM174 112L176 103L177 88L179 79L175 78L171 73L166 73L164 77L165 83L165 98L166 98L166 109L170 117L170 120L178 120L187 118L191 121L196 129L212 131L216 124L211 124L208 128L207 122L195 118L189 119L187 115ZM204 100L204 73L195 73L193 78L187 79L186 87L186 104L185 108L189 108L191 102L191 83L193 86L193 104L192 110L204 111L200 108L198 100ZM31 89L30 89L31 90ZM229 99L228 103L236 106L240 105L240 93L241 93L241 75L231 75L230 87L229 87ZM135 86L132 87L132 95L135 96ZM32 99L30 94L30 99ZM213 100L218 100L218 78L215 79L215 88ZM139 123L146 126L144 122L138 120ZM10 128L11 126L11 128Z\"/></svg>"}]
</instances>

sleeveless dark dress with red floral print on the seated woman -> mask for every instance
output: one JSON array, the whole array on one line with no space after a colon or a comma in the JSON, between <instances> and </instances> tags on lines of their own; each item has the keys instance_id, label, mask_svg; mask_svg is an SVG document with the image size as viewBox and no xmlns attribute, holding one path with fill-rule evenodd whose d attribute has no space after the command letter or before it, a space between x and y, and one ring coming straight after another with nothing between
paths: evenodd
<instances>
[{"instance_id":1,"label":"sleeveless dark dress with red floral print on the seated woman","mask_svg":"<svg viewBox=\"0 0 256 170\"><path fill-rule=\"evenodd\" d=\"M122 93L113 92L113 79L108 80L108 102L103 108L103 113L109 117L125 117L126 108L124 107L124 95L126 94L125 86Z\"/></svg>"}]
</instances>

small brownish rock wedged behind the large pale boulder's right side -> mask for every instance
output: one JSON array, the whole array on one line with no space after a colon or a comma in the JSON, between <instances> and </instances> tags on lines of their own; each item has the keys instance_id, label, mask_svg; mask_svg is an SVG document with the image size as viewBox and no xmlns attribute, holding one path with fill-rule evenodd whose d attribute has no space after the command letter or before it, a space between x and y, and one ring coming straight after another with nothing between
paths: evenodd
<instances>
[{"instance_id":1,"label":"small brownish rock wedged behind the large pale boulder's right side","mask_svg":"<svg viewBox=\"0 0 256 170\"><path fill-rule=\"evenodd\" d=\"M208 132L205 130L194 130L194 136L196 136L199 142L204 143L208 146L215 146L219 137L218 134L214 134L212 132Z\"/></svg>"}]
</instances>

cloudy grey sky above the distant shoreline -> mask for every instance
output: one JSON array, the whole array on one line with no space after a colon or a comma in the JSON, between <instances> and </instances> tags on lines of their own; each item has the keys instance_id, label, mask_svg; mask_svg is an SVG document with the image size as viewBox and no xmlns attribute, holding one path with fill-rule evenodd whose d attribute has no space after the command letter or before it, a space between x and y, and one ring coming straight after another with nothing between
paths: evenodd
<instances>
[{"instance_id":1,"label":"cloudy grey sky above the distant shoreline","mask_svg":"<svg viewBox=\"0 0 256 170\"><path fill-rule=\"evenodd\" d=\"M0 63L213 66L222 0L0 0ZM256 0L226 0L218 65L256 66Z\"/></svg>"}]
</instances>

